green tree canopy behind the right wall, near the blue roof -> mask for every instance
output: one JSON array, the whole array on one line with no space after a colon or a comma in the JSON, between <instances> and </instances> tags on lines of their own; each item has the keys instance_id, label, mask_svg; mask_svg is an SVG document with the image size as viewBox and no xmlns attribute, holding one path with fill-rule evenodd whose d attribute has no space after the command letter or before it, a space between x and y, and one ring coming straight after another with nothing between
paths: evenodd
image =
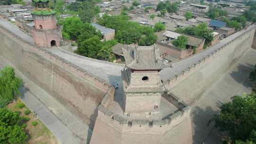
<instances>
[{"instance_id":1,"label":"green tree canopy behind the right wall, near the blue roof","mask_svg":"<svg viewBox=\"0 0 256 144\"><path fill-rule=\"evenodd\" d=\"M177 28L176 31L205 38L204 45L206 46L210 45L211 41L213 40L213 31L207 28L206 23L201 23L197 27Z\"/></svg>"}]
</instances>

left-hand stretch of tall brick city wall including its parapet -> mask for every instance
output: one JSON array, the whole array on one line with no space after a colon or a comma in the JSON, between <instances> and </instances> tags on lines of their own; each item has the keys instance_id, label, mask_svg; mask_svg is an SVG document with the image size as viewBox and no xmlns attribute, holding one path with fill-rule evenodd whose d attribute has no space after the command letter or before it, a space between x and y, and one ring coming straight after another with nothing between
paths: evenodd
<instances>
[{"instance_id":1,"label":"left-hand stretch of tall brick city wall including its parapet","mask_svg":"<svg viewBox=\"0 0 256 144\"><path fill-rule=\"evenodd\" d=\"M87 125L93 125L103 96L113 97L114 89L106 81L4 27L0 27L0 39L0 54Z\"/></svg>"}]
</instances>

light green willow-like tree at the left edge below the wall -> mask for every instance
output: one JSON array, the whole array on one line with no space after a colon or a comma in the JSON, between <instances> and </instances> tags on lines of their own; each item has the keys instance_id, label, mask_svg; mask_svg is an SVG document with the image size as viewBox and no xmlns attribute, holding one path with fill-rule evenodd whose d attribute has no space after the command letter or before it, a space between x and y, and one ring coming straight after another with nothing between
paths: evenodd
<instances>
[{"instance_id":1,"label":"light green willow-like tree at the left edge below the wall","mask_svg":"<svg viewBox=\"0 0 256 144\"><path fill-rule=\"evenodd\" d=\"M15 76L15 70L11 67L5 67L0 71L0 108L7 105L14 94L20 94L19 87L22 79Z\"/></svg>"}]
</instances>

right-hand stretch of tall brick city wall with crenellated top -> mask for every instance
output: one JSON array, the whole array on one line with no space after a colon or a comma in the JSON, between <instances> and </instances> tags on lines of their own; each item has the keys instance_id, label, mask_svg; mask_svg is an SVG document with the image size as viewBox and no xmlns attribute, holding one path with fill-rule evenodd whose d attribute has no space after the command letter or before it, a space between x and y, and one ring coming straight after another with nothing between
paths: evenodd
<instances>
[{"instance_id":1,"label":"right-hand stretch of tall brick city wall with crenellated top","mask_svg":"<svg viewBox=\"0 0 256 144\"><path fill-rule=\"evenodd\" d=\"M165 83L166 89L187 104L198 100L223 72L226 72L248 49L252 47L255 27L241 31L215 45L214 51L193 63ZM223 43L225 42L225 43ZM216 47L220 45L219 47ZM209 49L210 49L209 48ZM203 51L202 53L206 53ZM197 55L194 55L197 56ZM192 57L191 57L192 58ZM190 58L181 60L190 61ZM180 61L180 62L181 62ZM180 63L179 62L179 63ZM175 64L175 63L174 63Z\"/></svg>"}]
</instances>

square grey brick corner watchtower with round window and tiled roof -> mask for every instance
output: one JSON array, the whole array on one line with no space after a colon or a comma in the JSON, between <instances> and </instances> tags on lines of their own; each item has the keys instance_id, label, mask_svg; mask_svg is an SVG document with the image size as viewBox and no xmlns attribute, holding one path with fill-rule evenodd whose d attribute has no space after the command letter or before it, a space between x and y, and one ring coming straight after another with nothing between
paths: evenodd
<instances>
[{"instance_id":1,"label":"square grey brick corner watchtower with round window and tiled roof","mask_svg":"<svg viewBox=\"0 0 256 144\"><path fill-rule=\"evenodd\" d=\"M155 45L136 46L133 55L134 60L122 72L124 112L150 115L159 111L165 91L161 86L160 71L170 65L157 60Z\"/></svg>"}]
</instances>

